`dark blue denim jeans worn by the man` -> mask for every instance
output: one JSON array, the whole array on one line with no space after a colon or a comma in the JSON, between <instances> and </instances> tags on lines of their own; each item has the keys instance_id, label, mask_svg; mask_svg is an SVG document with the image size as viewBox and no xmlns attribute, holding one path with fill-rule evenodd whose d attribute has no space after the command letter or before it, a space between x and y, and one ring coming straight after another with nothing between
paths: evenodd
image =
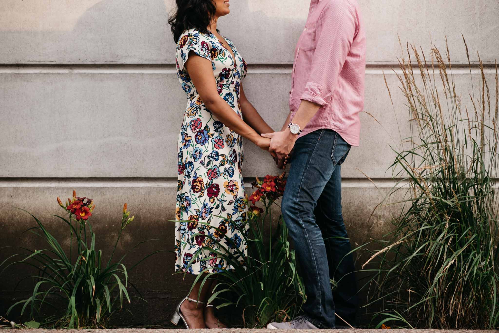
<instances>
[{"instance_id":1,"label":"dark blue denim jeans worn by the man","mask_svg":"<svg viewBox=\"0 0 499 333\"><path fill-rule=\"evenodd\" d=\"M341 214L341 164L350 148L330 129L298 138L282 197L282 215L305 284L304 315L318 328L334 328L335 312L355 325L355 268L352 255L346 256L351 248ZM334 292L330 278L342 278Z\"/></svg>"}]
</instances>

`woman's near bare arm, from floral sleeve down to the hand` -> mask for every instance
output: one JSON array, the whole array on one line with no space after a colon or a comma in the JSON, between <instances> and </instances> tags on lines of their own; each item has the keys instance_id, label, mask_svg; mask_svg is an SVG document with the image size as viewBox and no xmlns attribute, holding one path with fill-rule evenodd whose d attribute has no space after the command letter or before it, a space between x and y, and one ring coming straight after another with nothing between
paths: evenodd
<instances>
[{"instance_id":1,"label":"woman's near bare arm, from floral sleeve down to the hand","mask_svg":"<svg viewBox=\"0 0 499 333\"><path fill-rule=\"evenodd\" d=\"M191 77L196 90L199 92L203 103L224 125L236 133L250 140L258 147L268 150L270 139L261 137L254 129L241 119L236 112L220 97L217 91L217 82L213 75L212 63L193 51L185 63L187 72Z\"/></svg>"}]
</instances>

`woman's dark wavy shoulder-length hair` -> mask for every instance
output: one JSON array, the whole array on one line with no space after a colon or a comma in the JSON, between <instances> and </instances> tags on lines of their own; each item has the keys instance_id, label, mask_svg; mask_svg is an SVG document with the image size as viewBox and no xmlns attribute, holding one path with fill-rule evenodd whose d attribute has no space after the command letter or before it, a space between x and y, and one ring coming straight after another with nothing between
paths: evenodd
<instances>
[{"instance_id":1,"label":"woman's dark wavy shoulder-length hair","mask_svg":"<svg viewBox=\"0 0 499 333\"><path fill-rule=\"evenodd\" d=\"M177 0L176 2L177 10L168 18L175 42L187 29L196 28L203 33L208 33L208 26L216 10L212 0Z\"/></svg>"}]
</instances>

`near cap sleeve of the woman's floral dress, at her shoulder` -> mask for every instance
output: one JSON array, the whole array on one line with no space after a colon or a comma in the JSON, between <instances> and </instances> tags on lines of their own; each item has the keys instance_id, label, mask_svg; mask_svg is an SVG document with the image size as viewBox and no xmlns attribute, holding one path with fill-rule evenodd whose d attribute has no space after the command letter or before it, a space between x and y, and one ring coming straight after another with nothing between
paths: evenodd
<instances>
[{"instance_id":1,"label":"near cap sleeve of the woman's floral dress, at her shoulder","mask_svg":"<svg viewBox=\"0 0 499 333\"><path fill-rule=\"evenodd\" d=\"M179 69L185 71L184 65L189 59L189 52L212 60L211 43L208 38L198 30L187 30L179 38L177 43L177 63ZM192 54L192 53L191 53Z\"/></svg>"}]
</instances>

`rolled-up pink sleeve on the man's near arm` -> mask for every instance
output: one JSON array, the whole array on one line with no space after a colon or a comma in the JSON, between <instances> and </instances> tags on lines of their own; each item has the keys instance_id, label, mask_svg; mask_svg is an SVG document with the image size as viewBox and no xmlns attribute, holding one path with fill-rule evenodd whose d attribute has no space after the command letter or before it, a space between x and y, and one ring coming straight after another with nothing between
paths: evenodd
<instances>
[{"instance_id":1,"label":"rolled-up pink sleeve on the man's near arm","mask_svg":"<svg viewBox=\"0 0 499 333\"><path fill-rule=\"evenodd\" d=\"M345 0L332 0L322 10L315 30L315 51L301 99L327 105L357 31L355 9Z\"/></svg>"}]
</instances>

